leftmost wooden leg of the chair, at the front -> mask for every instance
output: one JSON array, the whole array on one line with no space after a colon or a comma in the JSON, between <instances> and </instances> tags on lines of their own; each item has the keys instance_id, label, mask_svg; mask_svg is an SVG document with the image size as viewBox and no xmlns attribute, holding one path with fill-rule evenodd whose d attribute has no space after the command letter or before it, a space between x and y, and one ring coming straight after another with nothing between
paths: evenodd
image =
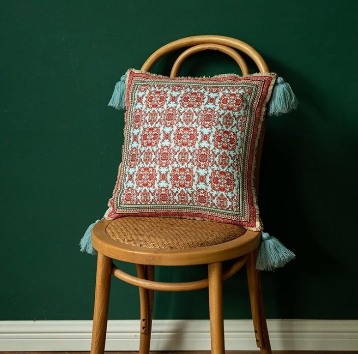
<instances>
[{"instance_id":1,"label":"leftmost wooden leg of the chair, at the front","mask_svg":"<svg viewBox=\"0 0 358 354\"><path fill-rule=\"evenodd\" d=\"M111 273L112 259L98 253L91 354L103 354L105 351Z\"/></svg>"}]
</instances>

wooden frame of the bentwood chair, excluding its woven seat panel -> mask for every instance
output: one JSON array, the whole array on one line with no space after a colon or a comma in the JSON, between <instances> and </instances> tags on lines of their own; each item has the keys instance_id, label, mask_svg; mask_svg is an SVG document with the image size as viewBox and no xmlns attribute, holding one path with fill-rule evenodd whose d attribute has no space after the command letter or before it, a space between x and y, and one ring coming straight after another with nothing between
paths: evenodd
<instances>
[{"instance_id":1,"label":"wooden frame of the bentwood chair, excluding its woven seat panel","mask_svg":"<svg viewBox=\"0 0 358 354\"><path fill-rule=\"evenodd\" d=\"M264 59L247 43L238 39L217 35L192 36L166 44L155 51L144 62L141 70L150 71L159 59L172 51L184 48L185 50L174 61L170 77L176 77L178 75L180 66L185 59L194 53L204 50L217 50L227 54L237 62L244 75L248 74L248 65L238 51L245 53L251 58L260 72L269 71ZM260 154L261 148L258 149L258 156L256 158L257 171ZM257 182L258 173L256 173L256 177ZM148 219L151 220L148 221ZM151 222L154 218L132 217L131 220ZM188 220L183 221L185 219L172 220L173 219L171 219L171 222L178 223L178 225L189 222ZM156 222L157 221L158 220L156 220ZM91 354L103 354L104 351L111 275L139 287L141 316L140 354L149 354L154 290L187 291L205 287L209 288L212 354L223 354L222 281L235 274L244 265L247 266L248 288L256 344L260 348L261 354L271 354L259 272L255 270L257 247L260 244L259 232L244 230L244 232L241 232L241 236L238 236L234 240L208 247L159 249L136 247L115 241L107 234L107 227L111 222L112 221L109 220L102 220L95 225L92 231L92 243L94 248L98 251L98 257ZM157 226L158 231L162 231L160 229L165 228L165 220L161 222L162 224L158 224ZM202 223L200 225L203 225L203 227L207 225L207 223L213 224L210 221L191 220L190 222ZM224 224L222 224L222 228L224 228ZM238 231L240 230L242 231L243 228L238 227ZM137 276L127 274L118 269L112 263L112 259L136 264ZM236 259L236 262L223 272L221 262L229 259ZM156 265L184 266L198 264L208 265L208 279L187 283L163 283L155 281L154 279L154 266Z\"/></svg>"}]
</instances>

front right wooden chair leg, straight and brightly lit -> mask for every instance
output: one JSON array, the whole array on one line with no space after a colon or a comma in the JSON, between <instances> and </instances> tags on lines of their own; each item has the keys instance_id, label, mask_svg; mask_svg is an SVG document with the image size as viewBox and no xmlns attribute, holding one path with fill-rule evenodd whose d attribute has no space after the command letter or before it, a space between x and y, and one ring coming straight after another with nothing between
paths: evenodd
<instances>
[{"instance_id":1,"label":"front right wooden chair leg, straight and brightly lit","mask_svg":"<svg viewBox=\"0 0 358 354\"><path fill-rule=\"evenodd\" d=\"M211 354L224 354L224 321L222 314L222 265L208 265Z\"/></svg>"}]
</instances>

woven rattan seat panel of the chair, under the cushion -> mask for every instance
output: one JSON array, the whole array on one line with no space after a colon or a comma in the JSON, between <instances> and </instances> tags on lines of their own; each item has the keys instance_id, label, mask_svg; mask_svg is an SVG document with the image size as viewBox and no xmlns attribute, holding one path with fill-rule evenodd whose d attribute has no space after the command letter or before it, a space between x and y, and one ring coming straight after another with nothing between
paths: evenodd
<instances>
[{"instance_id":1,"label":"woven rattan seat panel of the chair, under the cushion","mask_svg":"<svg viewBox=\"0 0 358 354\"><path fill-rule=\"evenodd\" d=\"M123 217L112 221L107 234L137 247L183 249L213 246L245 234L239 225L161 217Z\"/></svg>"}]
</instances>

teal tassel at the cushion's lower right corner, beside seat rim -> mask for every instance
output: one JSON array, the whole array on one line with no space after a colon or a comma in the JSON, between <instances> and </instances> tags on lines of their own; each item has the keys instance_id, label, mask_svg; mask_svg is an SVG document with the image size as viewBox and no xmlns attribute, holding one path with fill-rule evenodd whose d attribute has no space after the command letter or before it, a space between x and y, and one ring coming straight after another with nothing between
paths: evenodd
<instances>
[{"instance_id":1,"label":"teal tassel at the cushion's lower right corner, beside seat rim","mask_svg":"<svg viewBox=\"0 0 358 354\"><path fill-rule=\"evenodd\" d=\"M256 269L274 270L284 266L296 257L277 238L268 233L261 234L261 244L257 254Z\"/></svg>"}]
</instances>

